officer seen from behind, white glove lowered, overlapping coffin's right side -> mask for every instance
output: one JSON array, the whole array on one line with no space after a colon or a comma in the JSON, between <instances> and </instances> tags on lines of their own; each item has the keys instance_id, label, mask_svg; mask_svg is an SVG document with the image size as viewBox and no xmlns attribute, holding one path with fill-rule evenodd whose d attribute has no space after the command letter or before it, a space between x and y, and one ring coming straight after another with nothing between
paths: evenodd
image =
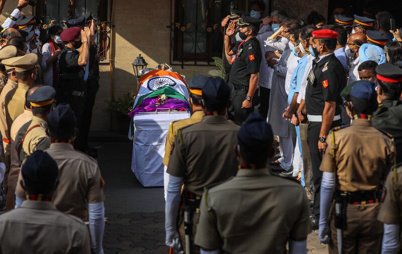
<instances>
[{"instance_id":1,"label":"officer seen from behind, white glove lowered, overlapping coffin's right side","mask_svg":"<svg viewBox=\"0 0 402 254\"><path fill-rule=\"evenodd\" d=\"M199 247L192 242L204 187L234 176L238 167L233 148L239 126L225 117L230 89L223 79L210 77L202 91L205 116L201 122L177 132L167 167L169 184L165 208L165 242L176 250L181 249L181 243L185 244L186 254L199 253ZM184 211L181 214L184 213L185 218L184 223L179 224L179 235L176 217L182 183Z\"/></svg>"}]
</instances>

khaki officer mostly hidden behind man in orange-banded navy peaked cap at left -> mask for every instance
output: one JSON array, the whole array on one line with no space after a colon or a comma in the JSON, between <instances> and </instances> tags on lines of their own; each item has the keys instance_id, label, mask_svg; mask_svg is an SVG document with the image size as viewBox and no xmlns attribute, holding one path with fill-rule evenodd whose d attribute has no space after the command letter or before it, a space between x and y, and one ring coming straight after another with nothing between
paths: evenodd
<instances>
[{"instance_id":1,"label":"khaki officer mostly hidden behind man in orange-banded navy peaked cap at left","mask_svg":"<svg viewBox=\"0 0 402 254\"><path fill-rule=\"evenodd\" d=\"M28 122L32 121L32 109L31 109L31 103L28 100L28 97L32 95L32 93L38 89L38 85L31 86L26 95L25 95L25 109L24 113L20 114L17 116L17 118L14 120L13 124L11 125L11 130L10 130L10 158L11 158L11 164L10 164L10 170L9 170L9 177L7 181L8 185L8 191L7 191L7 198L6 198L6 208L7 210L12 210L14 209L15 206L15 191L16 191L16 186L17 186L17 180L18 180L18 175L20 174L20 160L19 156L17 154L17 149L16 149L16 137L18 131L22 128L22 126ZM29 125L29 124L28 124ZM27 128L28 128L27 125ZM25 135L26 131L28 130L27 128L24 128L24 133L21 133L21 135ZM22 137L21 137L22 140Z\"/></svg>"}]
</instances>

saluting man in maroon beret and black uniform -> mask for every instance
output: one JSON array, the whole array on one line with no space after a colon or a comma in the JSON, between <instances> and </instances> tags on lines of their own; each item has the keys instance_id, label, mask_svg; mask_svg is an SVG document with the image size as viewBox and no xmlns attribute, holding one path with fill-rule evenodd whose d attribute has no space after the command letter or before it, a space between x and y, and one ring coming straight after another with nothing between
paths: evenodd
<instances>
[{"instance_id":1,"label":"saluting man in maroon beret and black uniform","mask_svg":"<svg viewBox=\"0 0 402 254\"><path fill-rule=\"evenodd\" d=\"M89 59L89 36L89 28L82 31L79 27L64 30L60 38L65 42L65 46L57 62L59 82L56 101L70 104L75 113L78 133L74 146L79 151L85 151L82 121L86 95L84 67Z\"/></svg>"}]
</instances>

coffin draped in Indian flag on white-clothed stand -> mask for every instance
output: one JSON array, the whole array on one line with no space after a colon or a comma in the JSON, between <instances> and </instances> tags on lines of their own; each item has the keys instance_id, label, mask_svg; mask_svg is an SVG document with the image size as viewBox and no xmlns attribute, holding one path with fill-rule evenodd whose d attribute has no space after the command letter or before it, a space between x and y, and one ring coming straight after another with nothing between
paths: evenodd
<instances>
[{"instance_id":1,"label":"coffin draped in Indian flag on white-clothed stand","mask_svg":"<svg viewBox=\"0 0 402 254\"><path fill-rule=\"evenodd\" d=\"M142 75L131 116L131 170L143 186L163 186L166 134L172 121L188 118L185 80L175 72L153 70Z\"/></svg>"}]
</instances>

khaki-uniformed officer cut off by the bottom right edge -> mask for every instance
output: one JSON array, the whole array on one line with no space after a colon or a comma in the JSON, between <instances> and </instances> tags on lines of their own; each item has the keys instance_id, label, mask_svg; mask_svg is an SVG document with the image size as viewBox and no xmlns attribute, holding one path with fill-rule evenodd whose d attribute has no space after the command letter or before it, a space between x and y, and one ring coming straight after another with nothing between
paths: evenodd
<instances>
[{"instance_id":1,"label":"khaki-uniformed officer cut off by the bottom right edge","mask_svg":"<svg viewBox=\"0 0 402 254\"><path fill-rule=\"evenodd\" d=\"M400 222L402 221L402 164L389 172L384 186L385 199L377 219L384 223L381 253L400 253Z\"/></svg>"}]
</instances>

